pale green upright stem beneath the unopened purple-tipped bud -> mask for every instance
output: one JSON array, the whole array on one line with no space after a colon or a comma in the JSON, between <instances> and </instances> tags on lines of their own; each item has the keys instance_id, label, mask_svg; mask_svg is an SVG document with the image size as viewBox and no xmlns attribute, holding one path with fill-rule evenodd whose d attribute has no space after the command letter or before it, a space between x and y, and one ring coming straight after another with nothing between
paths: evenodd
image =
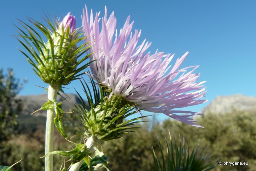
<instances>
[{"instance_id":1,"label":"pale green upright stem beneath the unopened purple-tipped bud","mask_svg":"<svg viewBox=\"0 0 256 171\"><path fill-rule=\"evenodd\" d=\"M56 100L58 86L49 85L48 99ZM53 151L54 109L47 110L45 130L45 154ZM45 171L53 171L53 155L45 157Z\"/></svg>"}]
</instances>

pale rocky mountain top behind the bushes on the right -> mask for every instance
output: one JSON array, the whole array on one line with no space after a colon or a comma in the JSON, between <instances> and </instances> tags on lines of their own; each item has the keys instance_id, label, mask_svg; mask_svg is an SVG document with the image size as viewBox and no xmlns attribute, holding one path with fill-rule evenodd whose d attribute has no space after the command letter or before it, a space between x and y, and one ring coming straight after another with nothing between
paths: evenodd
<instances>
[{"instance_id":1,"label":"pale rocky mountain top behind the bushes on the right","mask_svg":"<svg viewBox=\"0 0 256 171\"><path fill-rule=\"evenodd\" d=\"M244 96L242 94L217 96L203 109L205 113L214 112L218 114L232 112L233 110L256 110L256 97Z\"/></svg>"}]
</instances>

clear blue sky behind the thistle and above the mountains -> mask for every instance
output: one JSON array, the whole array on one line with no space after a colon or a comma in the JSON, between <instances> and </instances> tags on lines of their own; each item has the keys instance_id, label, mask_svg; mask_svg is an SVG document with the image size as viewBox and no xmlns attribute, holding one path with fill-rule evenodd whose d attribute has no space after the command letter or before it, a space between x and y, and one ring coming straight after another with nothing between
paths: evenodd
<instances>
[{"instance_id":1,"label":"clear blue sky behind the thistle and above the mountains","mask_svg":"<svg viewBox=\"0 0 256 171\"><path fill-rule=\"evenodd\" d=\"M199 81L207 81L209 102L187 107L199 112L217 95L244 94L256 96L256 1L236 0L1 0L0 1L0 68L13 68L17 78L27 78L21 95L40 94L46 86L38 78L25 57L17 50L21 44L11 35L16 35L13 24L27 17L42 21L43 12L63 18L68 12L76 16L81 25L82 9L115 11L117 28L120 29L130 15L134 29L141 29L141 41L152 42L150 51L156 49L175 53L175 59L186 51L189 55L182 67L200 65ZM67 93L80 90L80 83L69 86Z\"/></svg>"}]
</instances>

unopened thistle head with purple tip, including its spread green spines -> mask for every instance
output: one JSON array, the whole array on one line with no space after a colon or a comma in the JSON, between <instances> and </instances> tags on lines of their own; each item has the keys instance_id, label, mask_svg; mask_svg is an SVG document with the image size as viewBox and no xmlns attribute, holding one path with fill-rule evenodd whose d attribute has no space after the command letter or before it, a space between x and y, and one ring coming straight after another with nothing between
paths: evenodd
<instances>
[{"instance_id":1,"label":"unopened thistle head with purple tip, including its spread green spines","mask_svg":"<svg viewBox=\"0 0 256 171\"><path fill-rule=\"evenodd\" d=\"M83 45L76 46L78 42L84 40L81 27L76 29L76 19L68 13L62 21L54 20L46 16L48 26L38 21L29 19L35 26L32 28L23 21L21 25L27 30L27 33L18 28L20 37L25 40L19 40L28 55L22 52L33 65L35 73L48 84L55 86L63 86L69 84L70 81L76 79L78 72L85 69L88 65L77 68L77 65L85 61L88 56L81 56L89 48ZM40 33L37 33L40 31ZM42 34L43 33L43 34ZM44 35L47 42L44 42L40 35ZM33 58L31 58L32 56ZM77 57L83 57L77 61ZM33 60L34 59L34 60Z\"/></svg>"}]
</instances>

